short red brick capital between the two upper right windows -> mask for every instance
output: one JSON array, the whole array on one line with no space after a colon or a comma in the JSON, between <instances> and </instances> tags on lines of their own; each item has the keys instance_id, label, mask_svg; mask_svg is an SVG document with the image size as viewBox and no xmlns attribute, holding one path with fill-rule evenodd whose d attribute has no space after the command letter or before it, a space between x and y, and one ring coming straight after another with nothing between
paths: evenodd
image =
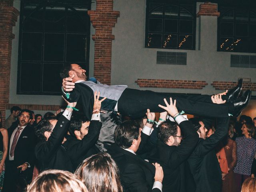
<instances>
[{"instance_id":1,"label":"short red brick capital between the two upper right windows","mask_svg":"<svg viewBox=\"0 0 256 192\"><path fill-rule=\"evenodd\" d=\"M211 2L200 4L199 11L197 13L197 17L199 16L220 16L220 12L218 12L218 5Z\"/></svg>"}]
</instances>

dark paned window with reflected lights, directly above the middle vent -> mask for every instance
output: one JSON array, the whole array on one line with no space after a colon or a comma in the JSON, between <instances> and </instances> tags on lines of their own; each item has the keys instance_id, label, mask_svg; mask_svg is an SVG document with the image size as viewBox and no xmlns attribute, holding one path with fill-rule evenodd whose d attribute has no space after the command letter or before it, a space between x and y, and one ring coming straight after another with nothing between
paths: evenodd
<instances>
[{"instance_id":1,"label":"dark paned window with reflected lights, directly above the middle vent","mask_svg":"<svg viewBox=\"0 0 256 192\"><path fill-rule=\"evenodd\" d=\"M147 0L145 47L195 49L195 2L161 2Z\"/></svg>"}]
</instances>

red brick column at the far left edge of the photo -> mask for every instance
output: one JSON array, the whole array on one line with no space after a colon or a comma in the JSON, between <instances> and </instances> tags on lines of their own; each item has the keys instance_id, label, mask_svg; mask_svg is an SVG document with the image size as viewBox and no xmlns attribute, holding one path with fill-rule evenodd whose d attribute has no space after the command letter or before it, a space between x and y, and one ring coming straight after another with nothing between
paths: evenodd
<instances>
[{"instance_id":1,"label":"red brick column at the far left edge of the photo","mask_svg":"<svg viewBox=\"0 0 256 192\"><path fill-rule=\"evenodd\" d=\"M0 1L0 111L5 119L6 104L9 103L10 68L12 54L12 27L15 26L19 11L13 7L13 0Z\"/></svg>"}]
</instances>

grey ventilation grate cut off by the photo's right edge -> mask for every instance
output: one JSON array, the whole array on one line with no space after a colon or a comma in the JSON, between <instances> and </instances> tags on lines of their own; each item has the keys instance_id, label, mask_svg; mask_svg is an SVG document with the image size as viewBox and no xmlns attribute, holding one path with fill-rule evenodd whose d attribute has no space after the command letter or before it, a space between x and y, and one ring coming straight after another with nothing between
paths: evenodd
<instances>
[{"instance_id":1,"label":"grey ventilation grate cut off by the photo's right edge","mask_svg":"<svg viewBox=\"0 0 256 192\"><path fill-rule=\"evenodd\" d=\"M230 67L256 68L256 56L231 55Z\"/></svg>"}]
</instances>

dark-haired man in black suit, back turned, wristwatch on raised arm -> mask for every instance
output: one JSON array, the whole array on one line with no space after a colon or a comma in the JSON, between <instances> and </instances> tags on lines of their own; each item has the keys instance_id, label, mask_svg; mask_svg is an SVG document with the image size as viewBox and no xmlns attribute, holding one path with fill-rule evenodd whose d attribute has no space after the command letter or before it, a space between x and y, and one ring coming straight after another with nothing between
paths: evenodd
<instances>
[{"instance_id":1,"label":"dark-haired man in black suit, back turned, wristwatch on raised arm","mask_svg":"<svg viewBox=\"0 0 256 192\"><path fill-rule=\"evenodd\" d=\"M143 153L148 141L154 115L148 110L148 121L140 132L138 123L127 120L118 125L114 132L115 144L108 149L108 153L116 162L120 171L121 183L124 191L129 192L160 192L162 191L162 167L154 166L143 160L137 153Z\"/></svg>"}]
</instances>

